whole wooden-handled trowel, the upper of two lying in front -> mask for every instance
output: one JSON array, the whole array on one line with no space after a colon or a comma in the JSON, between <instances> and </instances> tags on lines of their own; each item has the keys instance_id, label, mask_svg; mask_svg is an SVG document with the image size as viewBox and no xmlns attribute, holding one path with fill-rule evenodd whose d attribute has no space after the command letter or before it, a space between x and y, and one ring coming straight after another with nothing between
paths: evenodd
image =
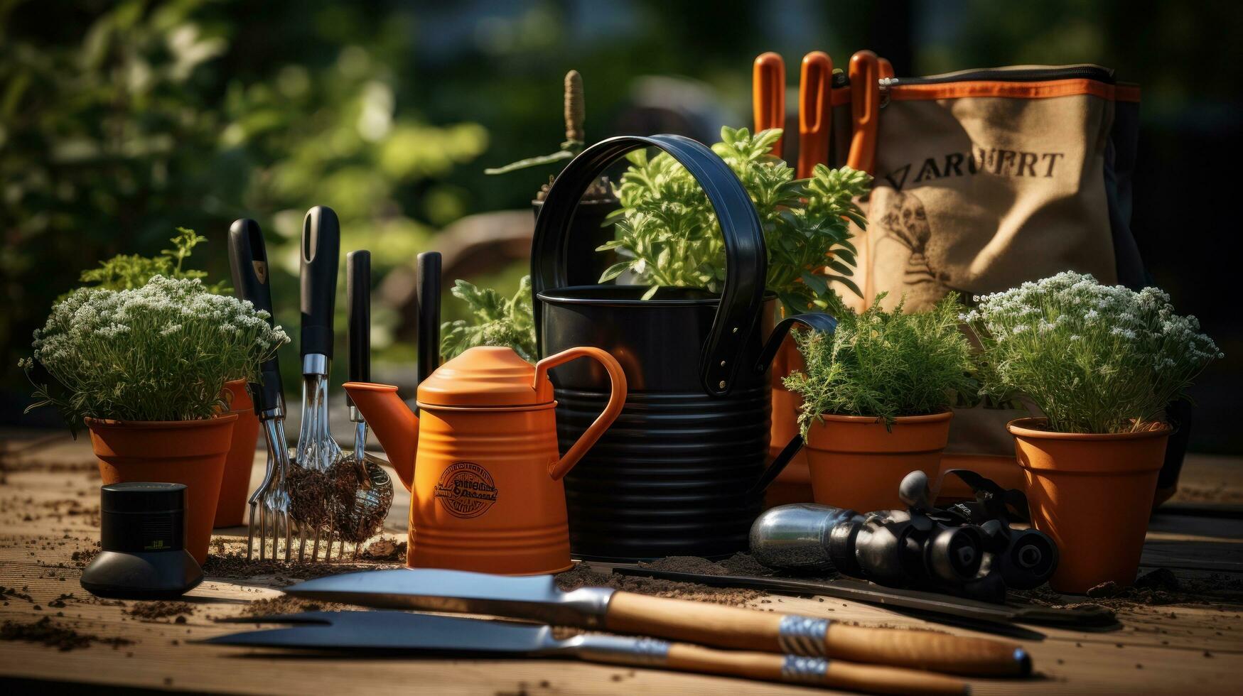
<instances>
[{"instance_id":1,"label":"whole wooden-handled trowel, the upper of two lying in front","mask_svg":"<svg viewBox=\"0 0 1243 696\"><path fill-rule=\"evenodd\" d=\"M286 593L379 609L491 614L731 650L827 656L961 675L1022 676L1032 669L1027 651L1008 641L853 626L603 587L563 592L552 575L431 568L368 570L308 580Z\"/></svg>"}]
</instances>

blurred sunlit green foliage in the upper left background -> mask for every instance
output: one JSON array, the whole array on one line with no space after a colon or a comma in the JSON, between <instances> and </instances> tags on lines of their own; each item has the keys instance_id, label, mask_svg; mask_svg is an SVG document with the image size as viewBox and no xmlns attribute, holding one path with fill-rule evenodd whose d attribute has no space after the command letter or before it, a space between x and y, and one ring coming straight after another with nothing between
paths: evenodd
<instances>
[{"instance_id":1,"label":"blurred sunlit green foliage in the upper left background","mask_svg":"<svg viewBox=\"0 0 1243 696\"><path fill-rule=\"evenodd\" d=\"M440 181L484 152L487 132L466 119L430 126L400 108L394 66L409 51L400 22L331 5L302 21L291 6L264 22L281 27L283 41L312 44L317 58L303 60L252 51L265 31L245 21L241 4L75 5L60 17L53 7L0 4L6 372L82 270L145 252L177 225L218 242L209 280L221 281L229 221L259 219L272 265L285 271L273 280L278 321L296 327L308 206L337 210L343 250L370 249L377 276L467 210L465 190ZM365 47L343 26L368 36ZM337 41L311 41L333 31ZM411 210L415 196L423 210ZM383 350L395 316L378 319Z\"/></svg>"}]
</instances>

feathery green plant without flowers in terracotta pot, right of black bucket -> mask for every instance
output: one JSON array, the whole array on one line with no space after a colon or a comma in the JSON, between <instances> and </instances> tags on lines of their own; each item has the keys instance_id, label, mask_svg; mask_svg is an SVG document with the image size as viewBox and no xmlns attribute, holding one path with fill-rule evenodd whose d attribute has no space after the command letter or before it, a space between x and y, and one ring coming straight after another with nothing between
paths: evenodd
<instances>
[{"instance_id":1,"label":"feathery green plant without flowers in terracotta pot, right of black bucket","mask_svg":"<svg viewBox=\"0 0 1243 696\"><path fill-rule=\"evenodd\" d=\"M905 298L886 312L883 297L860 313L834 309L833 333L800 336L805 368L786 378L803 398L815 502L859 512L902 507L897 486L916 469L936 480L950 406L977 389L956 295L911 314Z\"/></svg>"}]
</instances>

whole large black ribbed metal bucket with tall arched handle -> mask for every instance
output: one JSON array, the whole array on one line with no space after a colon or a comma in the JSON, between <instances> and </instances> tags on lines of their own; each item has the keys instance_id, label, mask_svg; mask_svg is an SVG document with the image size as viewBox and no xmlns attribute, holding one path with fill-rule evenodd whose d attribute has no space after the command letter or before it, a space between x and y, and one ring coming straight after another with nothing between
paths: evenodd
<instances>
[{"instance_id":1,"label":"whole large black ribbed metal bucket with tall arched handle","mask_svg":"<svg viewBox=\"0 0 1243 696\"><path fill-rule=\"evenodd\" d=\"M643 300L648 288L640 286L567 287L574 205L614 159L645 147L667 152L707 193L726 242L728 273L720 296L665 287ZM802 444L796 437L764 470L768 364L793 324L834 327L828 314L799 314L773 331L766 272L763 231L746 189L695 140L610 138L585 149L557 178L536 221L531 254L539 354L603 348L629 384L622 415L566 477L576 557L725 557L746 548L763 487ZM564 449L604 408L609 379L587 360L551 377Z\"/></svg>"}]
</instances>

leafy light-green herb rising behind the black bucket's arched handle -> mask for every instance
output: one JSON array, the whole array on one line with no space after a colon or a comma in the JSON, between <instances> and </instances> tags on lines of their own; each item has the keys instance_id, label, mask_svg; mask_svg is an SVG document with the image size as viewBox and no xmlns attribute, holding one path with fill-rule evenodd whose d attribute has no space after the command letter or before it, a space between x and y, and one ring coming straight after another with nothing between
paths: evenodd
<instances>
[{"instance_id":1,"label":"leafy light-green herb rising behind the black bucket's arched handle","mask_svg":"<svg viewBox=\"0 0 1243 696\"><path fill-rule=\"evenodd\" d=\"M759 214L768 247L767 288L787 313L825 309L830 282L861 295L850 280L856 251L849 224L866 227L854 199L868 193L871 176L822 164L809 179L796 179L772 154L781 135L779 128L752 135L726 127L712 152L737 174ZM629 271L653 286L646 297L660 286L720 291L725 241L699 183L667 153L649 158L635 150L626 158L630 167L614 188L622 208L608 220L617 222L617 239L598 250L613 250L623 261L607 268L600 282Z\"/></svg>"}]
</instances>

